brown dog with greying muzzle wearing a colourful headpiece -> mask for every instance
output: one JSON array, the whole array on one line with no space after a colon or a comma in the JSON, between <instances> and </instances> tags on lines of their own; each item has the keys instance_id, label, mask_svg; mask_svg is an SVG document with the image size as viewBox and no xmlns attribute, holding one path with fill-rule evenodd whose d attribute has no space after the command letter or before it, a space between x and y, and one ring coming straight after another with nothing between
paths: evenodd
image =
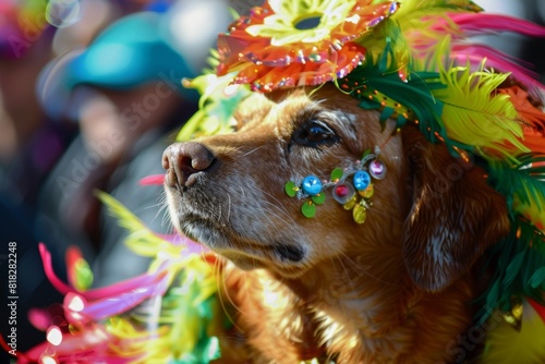
<instances>
[{"instance_id":1,"label":"brown dog with greying muzzle wearing a colourful headpiece","mask_svg":"<svg viewBox=\"0 0 545 364\"><path fill-rule=\"evenodd\" d=\"M331 85L253 94L235 133L165 151L174 226L235 266L226 299L244 341L223 342L226 362L460 359L486 283L472 267L509 230L505 199L471 161L414 125L383 132L358 104ZM286 195L286 182L328 178L375 146L387 174L363 225L329 195L312 219Z\"/></svg>"}]
</instances>

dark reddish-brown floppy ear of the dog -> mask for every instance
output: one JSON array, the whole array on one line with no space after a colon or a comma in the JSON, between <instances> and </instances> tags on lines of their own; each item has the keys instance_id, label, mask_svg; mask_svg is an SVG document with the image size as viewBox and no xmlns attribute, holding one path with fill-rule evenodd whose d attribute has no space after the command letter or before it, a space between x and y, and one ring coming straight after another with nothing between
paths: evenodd
<instances>
[{"instance_id":1,"label":"dark reddish-brown floppy ear of the dog","mask_svg":"<svg viewBox=\"0 0 545 364\"><path fill-rule=\"evenodd\" d=\"M403 227L403 258L420 288L440 291L507 234L506 202L481 168L451 157L414 128L404 129L413 205Z\"/></svg>"}]
</instances>

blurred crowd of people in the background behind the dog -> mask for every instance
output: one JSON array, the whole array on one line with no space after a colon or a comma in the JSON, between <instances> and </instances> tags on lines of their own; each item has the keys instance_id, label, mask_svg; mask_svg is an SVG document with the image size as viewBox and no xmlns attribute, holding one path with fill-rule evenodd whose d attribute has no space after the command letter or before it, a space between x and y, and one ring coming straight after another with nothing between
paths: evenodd
<instances>
[{"instance_id":1,"label":"blurred crowd of people in the background behind the dog","mask_svg":"<svg viewBox=\"0 0 545 364\"><path fill-rule=\"evenodd\" d=\"M261 2L0 0L0 269L3 277L5 246L16 242L17 325L29 332L20 336L21 350L43 339L24 313L62 299L45 279L39 242L61 277L66 247L78 246L97 287L147 268L95 191L111 194L154 231L171 232L161 187L138 180L162 173L165 147L196 110L197 95L181 80L207 66L231 11ZM542 24L545 16L544 1L476 2ZM494 41L544 65L528 40Z\"/></svg>"}]
</instances>

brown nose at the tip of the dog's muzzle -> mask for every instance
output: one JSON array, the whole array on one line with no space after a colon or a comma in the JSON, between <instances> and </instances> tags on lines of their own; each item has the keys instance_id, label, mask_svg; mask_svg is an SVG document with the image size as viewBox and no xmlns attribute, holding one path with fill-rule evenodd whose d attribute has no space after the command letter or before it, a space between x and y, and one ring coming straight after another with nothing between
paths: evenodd
<instances>
[{"instance_id":1,"label":"brown nose at the tip of the dog's muzzle","mask_svg":"<svg viewBox=\"0 0 545 364\"><path fill-rule=\"evenodd\" d=\"M167 185L190 187L196 182L196 174L210 167L214 154L201 143L174 143L162 154L162 168L168 173Z\"/></svg>"}]
</instances>

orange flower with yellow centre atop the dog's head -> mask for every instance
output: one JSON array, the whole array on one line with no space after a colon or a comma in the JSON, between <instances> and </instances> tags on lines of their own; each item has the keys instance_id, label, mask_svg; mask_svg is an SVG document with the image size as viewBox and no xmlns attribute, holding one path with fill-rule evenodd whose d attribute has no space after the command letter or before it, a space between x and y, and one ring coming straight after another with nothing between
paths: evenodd
<instances>
[{"instance_id":1,"label":"orange flower with yellow centre atop the dog's head","mask_svg":"<svg viewBox=\"0 0 545 364\"><path fill-rule=\"evenodd\" d=\"M218 75L238 71L253 90L318 85L350 73L365 56L355 40L393 14L395 1L269 0L218 38Z\"/></svg>"}]
</instances>

